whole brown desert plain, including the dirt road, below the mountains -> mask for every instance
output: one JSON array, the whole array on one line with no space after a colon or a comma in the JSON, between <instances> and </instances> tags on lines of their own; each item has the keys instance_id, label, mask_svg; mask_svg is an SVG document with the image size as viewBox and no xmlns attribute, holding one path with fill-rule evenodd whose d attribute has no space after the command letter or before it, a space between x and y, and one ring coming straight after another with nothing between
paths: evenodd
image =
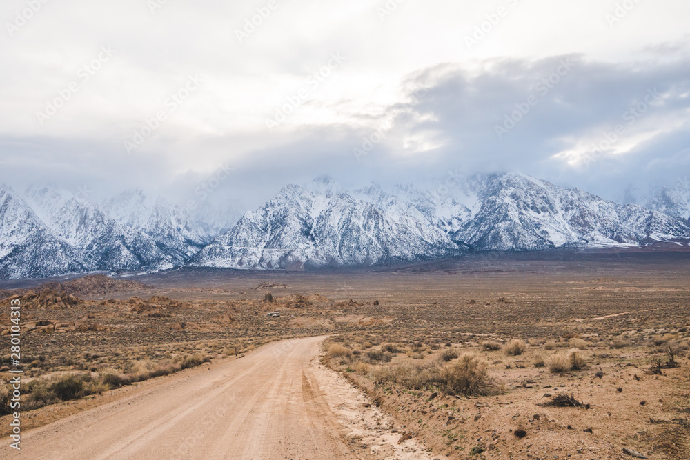
<instances>
[{"instance_id":1,"label":"whole brown desert plain, including the dirt road, below the mountains","mask_svg":"<svg viewBox=\"0 0 690 460\"><path fill-rule=\"evenodd\" d=\"M0 458L687 459L689 281L673 247L2 281Z\"/></svg>"}]
</instances>

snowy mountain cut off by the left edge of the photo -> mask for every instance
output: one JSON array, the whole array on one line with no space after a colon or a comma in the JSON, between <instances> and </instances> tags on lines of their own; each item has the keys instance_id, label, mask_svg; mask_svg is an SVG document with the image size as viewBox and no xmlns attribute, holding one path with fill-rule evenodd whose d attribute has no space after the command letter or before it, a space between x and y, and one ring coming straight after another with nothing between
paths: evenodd
<instances>
[{"instance_id":1,"label":"snowy mountain cut off by the left edge of the photo","mask_svg":"<svg viewBox=\"0 0 690 460\"><path fill-rule=\"evenodd\" d=\"M88 270L79 253L55 237L30 206L0 185L0 278L49 277Z\"/></svg>"}]
</instances>

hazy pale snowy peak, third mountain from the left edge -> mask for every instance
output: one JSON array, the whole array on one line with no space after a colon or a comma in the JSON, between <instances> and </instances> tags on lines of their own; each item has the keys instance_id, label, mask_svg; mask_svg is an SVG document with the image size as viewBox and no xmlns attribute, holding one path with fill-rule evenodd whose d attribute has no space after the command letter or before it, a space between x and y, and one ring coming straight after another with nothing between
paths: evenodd
<instances>
[{"instance_id":1,"label":"hazy pale snowy peak, third mountain from the left edge","mask_svg":"<svg viewBox=\"0 0 690 460\"><path fill-rule=\"evenodd\" d=\"M186 209L143 190L128 190L101 203L119 223L148 234L167 254L184 262L206 246L210 238Z\"/></svg>"}]
</instances>

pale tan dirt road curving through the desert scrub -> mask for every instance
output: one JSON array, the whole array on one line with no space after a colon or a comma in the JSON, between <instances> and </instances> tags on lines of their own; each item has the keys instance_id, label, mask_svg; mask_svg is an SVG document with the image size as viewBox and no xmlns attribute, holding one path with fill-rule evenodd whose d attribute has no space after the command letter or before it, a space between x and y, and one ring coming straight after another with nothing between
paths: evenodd
<instances>
[{"instance_id":1,"label":"pale tan dirt road curving through the desert scrub","mask_svg":"<svg viewBox=\"0 0 690 460\"><path fill-rule=\"evenodd\" d=\"M310 363L324 337L269 343L205 372L27 432L26 459L351 459Z\"/></svg>"}]
</instances>

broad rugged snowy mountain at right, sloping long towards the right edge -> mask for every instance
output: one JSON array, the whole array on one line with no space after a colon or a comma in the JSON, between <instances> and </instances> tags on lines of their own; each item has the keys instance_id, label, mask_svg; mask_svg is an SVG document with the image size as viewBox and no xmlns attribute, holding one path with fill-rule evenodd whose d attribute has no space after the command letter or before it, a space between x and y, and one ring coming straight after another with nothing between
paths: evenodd
<instances>
[{"instance_id":1,"label":"broad rugged snowy mountain at right, sloping long towards the right edge","mask_svg":"<svg viewBox=\"0 0 690 460\"><path fill-rule=\"evenodd\" d=\"M477 214L451 237L475 250L543 250L562 246L615 246L689 239L673 217L594 194L560 188L526 174L484 181Z\"/></svg>"}]
</instances>

